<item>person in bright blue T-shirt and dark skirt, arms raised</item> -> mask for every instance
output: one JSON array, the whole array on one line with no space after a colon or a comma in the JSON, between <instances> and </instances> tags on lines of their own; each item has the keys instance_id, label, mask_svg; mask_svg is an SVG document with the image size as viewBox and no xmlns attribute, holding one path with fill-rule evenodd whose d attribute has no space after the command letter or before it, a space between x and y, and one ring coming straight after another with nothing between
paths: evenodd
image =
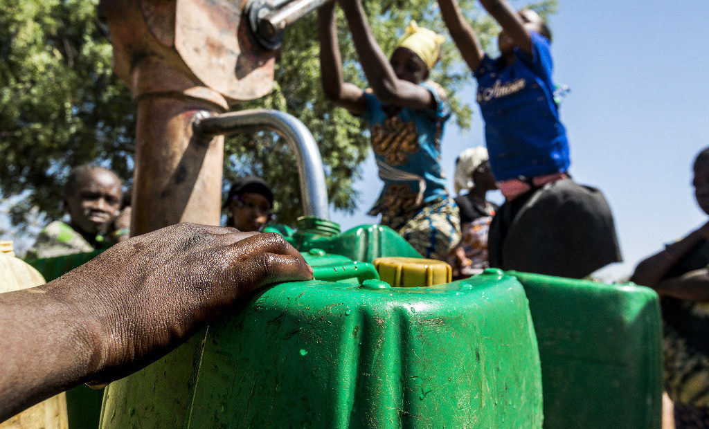
<instances>
[{"instance_id":1,"label":"person in bright blue T-shirt and dark skirt, arms raised","mask_svg":"<svg viewBox=\"0 0 709 429\"><path fill-rule=\"evenodd\" d=\"M438 0L478 81L489 162L506 198L490 226L492 267L585 277L620 261L610 208L597 189L571 181L569 143L552 83L552 35L529 9L481 0L500 24L500 57L480 47L454 0Z\"/></svg>"}]
</instances>

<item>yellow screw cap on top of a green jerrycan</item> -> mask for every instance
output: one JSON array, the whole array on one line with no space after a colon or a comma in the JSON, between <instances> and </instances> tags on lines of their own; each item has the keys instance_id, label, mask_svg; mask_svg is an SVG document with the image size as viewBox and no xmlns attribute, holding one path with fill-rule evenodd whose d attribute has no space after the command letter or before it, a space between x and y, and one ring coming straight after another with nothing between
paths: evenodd
<instances>
[{"instance_id":1,"label":"yellow screw cap on top of a green jerrycan","mask_svg":"<svg viewBox=\"0 0 709 429\"><path fill-rule=\"evenodd\" d=\"M449 264L418 257L378 257L374 267L379 278L393 287L426 287L450 283L452 268Z\"/></svg>"}]
</instances>

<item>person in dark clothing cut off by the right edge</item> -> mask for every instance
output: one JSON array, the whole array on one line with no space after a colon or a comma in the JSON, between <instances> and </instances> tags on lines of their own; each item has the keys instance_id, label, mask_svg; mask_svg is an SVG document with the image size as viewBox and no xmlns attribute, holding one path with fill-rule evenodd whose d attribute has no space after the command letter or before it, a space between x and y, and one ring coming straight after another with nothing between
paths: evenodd
<instances>
[{"instance_id":1,"label":"person in dark clothing cut off by the right edge","mask_svg":"<svg viewBox=\"0 0 709 429\"><path fill-rule=\"evenodd\" d=\"M694 196L709 214L709 147L694 161ZM665 390L676 428L709 428L709 222L640 262L631 280L661 296Z\"/></svg>"}]
</instances>

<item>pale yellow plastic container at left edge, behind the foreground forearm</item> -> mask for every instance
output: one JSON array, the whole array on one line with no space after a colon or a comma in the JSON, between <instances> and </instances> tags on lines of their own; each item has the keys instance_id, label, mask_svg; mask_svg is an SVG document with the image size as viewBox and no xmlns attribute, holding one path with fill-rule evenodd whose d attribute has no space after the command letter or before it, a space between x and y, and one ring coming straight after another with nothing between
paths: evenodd
<instances>
[{"instance_id":1,"label":"pale yellow plastic container at left edge, behind the foreground forearm","mask_svg":"<svg viewBox=\"0 0 709 429\"><path fill-rule=\"evenodd\" d=\"M0 241L0 293L19 291L44 284L42 275L15 257L11 241ZM61 393L0 423L1 429L66 429L66 395Z\"/></svg>"}]
</instances>

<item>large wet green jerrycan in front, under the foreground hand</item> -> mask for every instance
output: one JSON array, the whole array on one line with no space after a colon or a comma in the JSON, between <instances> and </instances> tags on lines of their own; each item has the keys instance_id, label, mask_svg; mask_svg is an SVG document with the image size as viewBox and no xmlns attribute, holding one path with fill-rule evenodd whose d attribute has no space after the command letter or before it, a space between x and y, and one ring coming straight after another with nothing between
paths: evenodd
<instances>
[{"instance_id":1,"label":"large wet green jerrycan in front, under the foreground hand","mask_svg":"<svg viewBox=\"0 0 709 429\"><path fill-rule=\"evenodd\" d=\"M110 384L101 428L539 428L541 389L527 299L498 270L284 283Z\"/></svg>"}]
</instances>

